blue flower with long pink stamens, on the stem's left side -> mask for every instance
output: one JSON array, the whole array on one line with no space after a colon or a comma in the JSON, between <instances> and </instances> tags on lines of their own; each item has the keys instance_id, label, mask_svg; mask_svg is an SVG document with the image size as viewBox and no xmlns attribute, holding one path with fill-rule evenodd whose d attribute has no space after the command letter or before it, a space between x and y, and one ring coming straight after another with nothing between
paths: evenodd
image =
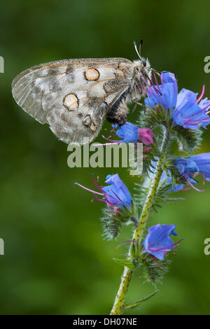
<instances>
[{"instance_id":1,"label":"blue flower with long pink stamens, on the stem's left side","mask_svg":"<svg viewBox=\"0 0 210 329\"><path fill-rule=\"evenodd\" d=\"M108 175L106 176L105 183L109 184L105 187L100 187L96 181L94 181L94 176L92 176L94 185L100 190L100 192L95 190L90 190L90 188L85 188L85 186L80 185L79 183L76 183L76 185L80 186L81 188L84 188L85 190L88 190L94 194L94 199L102 202L106 202L108 207L113 207L115 212L119 212L118 207L120 209L125 210L124 207L131 210L132 209L132 197L130 195L129 190L121 181L118 174L115 174L113 176ZM104 199L98 199L95 195L102 195Z\"/></svg>"}]
</instances>

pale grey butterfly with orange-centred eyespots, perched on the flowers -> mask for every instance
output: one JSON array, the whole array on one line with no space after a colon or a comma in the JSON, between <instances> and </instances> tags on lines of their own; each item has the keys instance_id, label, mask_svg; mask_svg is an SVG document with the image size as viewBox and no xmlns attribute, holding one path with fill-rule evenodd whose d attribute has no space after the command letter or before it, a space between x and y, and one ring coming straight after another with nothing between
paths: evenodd
<instances>
[{"instance_id":1,"label":"pale grey butterfly with orange-centred eyespots, perched on the flowers","mask_svg":"<svg viewBox=\"0 0 210 329\"><path fill-rule=\"evenodd\" d=\"M137 50L137 45L134 43ZM93 141L106 118L126 123L127 104L138 102L151 85L151 65L141 57L63 59L39 64L16 76L15 101L67 144ZM85 142L84 142L85 141Z\"/></svg>"}]
</instances>

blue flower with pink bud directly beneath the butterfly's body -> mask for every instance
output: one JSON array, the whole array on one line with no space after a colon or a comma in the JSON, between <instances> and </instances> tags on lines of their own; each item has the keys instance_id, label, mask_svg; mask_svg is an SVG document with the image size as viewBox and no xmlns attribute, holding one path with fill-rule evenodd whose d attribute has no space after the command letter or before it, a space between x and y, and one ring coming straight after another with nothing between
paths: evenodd
<instances>
[{"instance_id":1,"label":"blue flower with pink bud directly beneath the butterfly's body","mask_svg":"<svg viewBox=\"0 0 210 329\"><path fill-rule=\"evenodd\" d=\"M111 135L119 137L121 141L114 141L112 139L106 139L111 143L122 144L122 143L138 143L142 142L146 146L151 146L153 144L153 132L150 129L139 128L132 123L125 123L125 125L118 127L118 125L112 125L113 130L116 129L116 133L113 131L109 132Z\"/></svg>"}]
</instances>

